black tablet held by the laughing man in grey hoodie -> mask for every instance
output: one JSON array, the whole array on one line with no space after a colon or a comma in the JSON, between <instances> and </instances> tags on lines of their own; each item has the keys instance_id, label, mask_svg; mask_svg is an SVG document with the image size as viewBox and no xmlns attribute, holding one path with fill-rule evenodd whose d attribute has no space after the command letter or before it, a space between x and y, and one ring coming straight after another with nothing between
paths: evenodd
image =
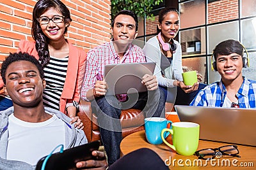
<instances>
[{"instance_id":1,"label":"black tablet held by the laughing man in grey hoodie","mask_svg":"<svg viewBox=\"0 0 256 170\"><path fill-rule=\"evenodd\" d=\"M81 160L95 159L92 155L93 150L99 150L100 141L93 141L84 145L76 146L64 150L63 153L53 153L47 160L45 170L50 169L76 169L76 163ZM36 164L36 170L42 168L42 164L47 156L40 159Z\"/></svg>"}]
</instances>

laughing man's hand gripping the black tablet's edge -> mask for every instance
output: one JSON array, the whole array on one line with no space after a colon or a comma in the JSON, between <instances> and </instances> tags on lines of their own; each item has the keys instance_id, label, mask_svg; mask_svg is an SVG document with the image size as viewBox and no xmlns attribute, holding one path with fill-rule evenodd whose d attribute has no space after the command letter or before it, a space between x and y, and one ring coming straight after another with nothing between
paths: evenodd
<instances>
[{"instance_id":1,"label":"laughing man's hand gripping the black tablet's edge","mask_svg":"<svg viewBox=\"0 0 256 170\"><path fill-rule=\"evenodd\" d=\"M108 163L106 161L106 157L104 152L100 152L97 150L93 150L92 155L96 157L96 160L86 160L86 161L80 161L76 163L76 167L79 169L106 169L108 167Z\"/></svg>"}]
</instances>

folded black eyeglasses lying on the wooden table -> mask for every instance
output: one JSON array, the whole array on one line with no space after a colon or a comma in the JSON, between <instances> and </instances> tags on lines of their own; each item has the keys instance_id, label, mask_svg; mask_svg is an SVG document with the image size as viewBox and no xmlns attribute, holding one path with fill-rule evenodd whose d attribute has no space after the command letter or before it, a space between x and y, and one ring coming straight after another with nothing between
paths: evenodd
<instances>
[{"instance_id":1,"label":"folded black eyeglasses lying on the wooden table","mask_svg":"<svg viewBox=\"0 0 256 170\"><path fill-rule=\"evenodd\" d=\"M217 152L218 151L218 152ZM236 145L225 145L221 146L220 148L207 148L198 150L195 152L195 155L198 156L200 159L214 159L214 157L221 158L223 155L228 155L232 157L240 157L239 150L237 149Z\"/></svg>"}]
</instances>

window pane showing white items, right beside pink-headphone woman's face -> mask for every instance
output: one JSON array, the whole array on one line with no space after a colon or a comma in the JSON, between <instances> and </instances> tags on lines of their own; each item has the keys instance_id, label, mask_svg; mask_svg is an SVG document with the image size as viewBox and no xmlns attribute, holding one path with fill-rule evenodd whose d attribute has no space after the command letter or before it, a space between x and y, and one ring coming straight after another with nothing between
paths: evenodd
<instances>
[{"instance_id":1,"label":"window pane showing white items, right beside pink-headphone woman's face","mask_svg":"<svg viewBox=\"0 0 256 170\"><path fill-rule=\"evenodd\" d=\"M182 56L205 54L205 27L180 31Z\"/></svg>"}]
</instances>

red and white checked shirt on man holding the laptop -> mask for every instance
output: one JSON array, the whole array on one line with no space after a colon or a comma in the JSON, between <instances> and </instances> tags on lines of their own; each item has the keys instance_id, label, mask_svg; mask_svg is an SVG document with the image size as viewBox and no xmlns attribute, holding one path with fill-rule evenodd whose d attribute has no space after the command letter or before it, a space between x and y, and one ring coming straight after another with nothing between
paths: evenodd
<instances>
[{"instance_id":1,"label":"red and white checked shirt on man holding the laptop","mask_svg":"<svg viewBox=\"0 0 256 170\"><path fill-rule=\"evenodd\" d=\"M88 90L93 89L97 80L102 81L104 77L104 66L107 64L121 64L131 62L146 62L143 50L136 45L130 44L124 57L120 60L116 53L113 42L104 43L90 50L86 57L84 81L81 89L81 97L86 98ZM125 101L126 94L116 95L119 101Z\"/></svg>"}]
</instances>

